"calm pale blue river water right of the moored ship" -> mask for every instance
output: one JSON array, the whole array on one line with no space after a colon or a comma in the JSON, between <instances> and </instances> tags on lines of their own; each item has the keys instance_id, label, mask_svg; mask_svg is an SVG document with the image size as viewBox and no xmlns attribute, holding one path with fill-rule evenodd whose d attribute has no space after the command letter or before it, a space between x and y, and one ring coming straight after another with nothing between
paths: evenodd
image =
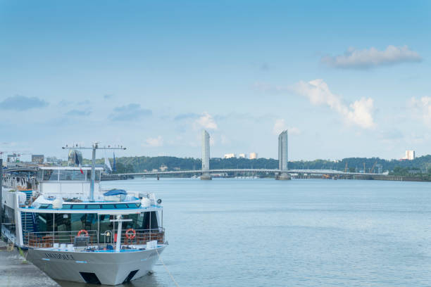
<instances>
[{"instance_id":1,"label":"calm pale blue river water right of the moored ship","mask_svg":"<svg viewBox=\"0 0 431 287\"><path fill-rule=\"evenodd\" d=\"M431 286L430 183L162 178L103 186L163 200L162 259L181 287ZM158 263L127 286L175 284Z\"/></svg>"}]
</instances>

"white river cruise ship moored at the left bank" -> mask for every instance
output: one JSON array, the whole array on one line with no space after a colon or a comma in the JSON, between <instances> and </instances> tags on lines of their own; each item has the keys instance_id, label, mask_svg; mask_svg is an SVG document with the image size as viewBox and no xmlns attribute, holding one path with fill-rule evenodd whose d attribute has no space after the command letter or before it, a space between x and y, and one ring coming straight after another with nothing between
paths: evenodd
<instances>
[{"instance_id":1,"label":"white river cruise ship moored at the left bank","mask_svg":"<svg viewBox=\"0 0 431 287\"><path fill-rule=\"evenodd\" d=\"M161 200L102 189L102 170L4 170L1 234L56 280L116 285L151 273L167 245Z\"/></svg>"}]
</instances>

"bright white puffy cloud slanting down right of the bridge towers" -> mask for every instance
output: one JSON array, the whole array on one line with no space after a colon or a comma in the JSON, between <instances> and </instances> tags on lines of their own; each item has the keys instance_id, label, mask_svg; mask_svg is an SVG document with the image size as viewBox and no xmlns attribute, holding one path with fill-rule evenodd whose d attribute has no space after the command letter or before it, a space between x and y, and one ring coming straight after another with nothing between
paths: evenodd
<instances>
[{"instance_id":1,"label":"bright white puffy cloud slanting down right of the bridge towers","mask_svg":"<svg viewBox=\"0 0 431 287\"><path fill-rule=\"evenodd\" d=\"M342 97L332 94L323 79L313 79L310 82L299 82L294 87L297 94L306 96L313 105L327 105L342 115L348 124L354 124L363 129L375 127L373 120L373 98L361 98L346 106Z\"/></svg>"}]
</instances>

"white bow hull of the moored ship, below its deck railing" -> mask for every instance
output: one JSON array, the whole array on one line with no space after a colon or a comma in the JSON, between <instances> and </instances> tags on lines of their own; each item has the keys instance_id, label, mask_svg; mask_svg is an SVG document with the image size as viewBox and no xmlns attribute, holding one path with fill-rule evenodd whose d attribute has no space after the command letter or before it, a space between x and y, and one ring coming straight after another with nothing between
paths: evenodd
<instances>
[{"instance_id":1,"label":"white bow hull of the moored ship, below its deck railing","mask_svg":"<svg viewBox=\"0 0 431 287\"><path fill-rule=\"evenodd\" d=\"M29 249L27 260L52 279L117 285L148 274L165 245L150 250L70 252L54 248Z\"/></svg>"}]
</instances>

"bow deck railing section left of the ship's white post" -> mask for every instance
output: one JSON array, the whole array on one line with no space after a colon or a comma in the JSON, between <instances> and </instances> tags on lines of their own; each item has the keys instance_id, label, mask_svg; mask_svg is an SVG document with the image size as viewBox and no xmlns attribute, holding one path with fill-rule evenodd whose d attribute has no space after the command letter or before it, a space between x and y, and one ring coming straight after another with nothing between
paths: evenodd
<instances>
[{"instance_id":1,"label":"bow deck railing section left of the ship's white post","mask_svg":"<svg viewBox=\"0 0 431 287\"><path fill-rule=\"evenodd\" d=\"M78 236L80 231L46 231L46 232L33 232L23 231L24 245L32 248L50 248L54 244L74 244L75 237ZM87 230L88 235L84 232L80 236L88 238L89 245L97 244L97 230Z\"/></svg>"}]
</instances>

